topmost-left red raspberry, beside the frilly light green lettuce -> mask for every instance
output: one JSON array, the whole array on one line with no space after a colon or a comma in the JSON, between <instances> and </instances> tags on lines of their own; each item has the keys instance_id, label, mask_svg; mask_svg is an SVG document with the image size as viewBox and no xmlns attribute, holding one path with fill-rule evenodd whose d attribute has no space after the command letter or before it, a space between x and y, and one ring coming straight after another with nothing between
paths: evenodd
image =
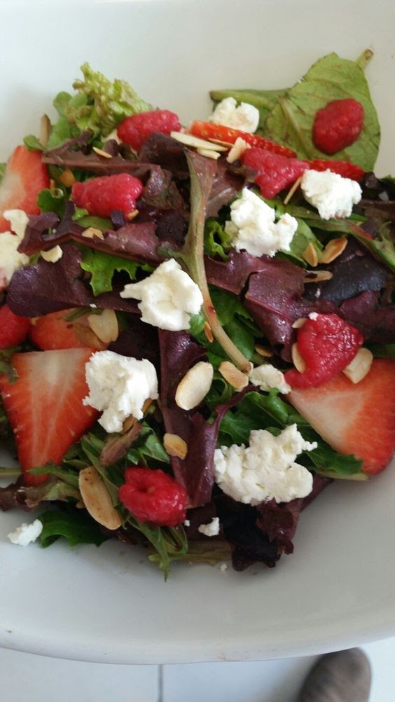
<instances>
[{"instance_id":1,"label":"topmost-left red raspberry, beside the frilly light green lettuce","mask_svg":"<svg viewBox=\"0 0 395 702\"><path fill-rule=\"evenodd\" d=\"M156 131L170 134L170 132L180 131L180 129L181 124L175 112L150 110L126 117L118 125L116 133L124 143L130 144L135 151L140 151L150 134Z\"/></svg>"}]
</instances>

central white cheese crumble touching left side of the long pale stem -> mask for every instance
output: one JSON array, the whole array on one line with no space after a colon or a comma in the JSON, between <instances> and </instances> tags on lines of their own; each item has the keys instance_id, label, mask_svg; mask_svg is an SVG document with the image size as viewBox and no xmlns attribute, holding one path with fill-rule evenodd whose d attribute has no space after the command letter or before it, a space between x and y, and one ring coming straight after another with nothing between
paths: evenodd
<instances>
[{"instance_id":1,"label":"central white cheese crumble touching left side of the long pale stem","mask_svg":"<svg viewBox=\"0 0 395 702\"><path fill-rule=\"evenodd\" d=\"M203 304L199 286L174 258L161 263L141 282L126 285L121 298L141 300L142 322L169 331L189 329L189 316L197 314Z\"/></svg>"}]
</instances>

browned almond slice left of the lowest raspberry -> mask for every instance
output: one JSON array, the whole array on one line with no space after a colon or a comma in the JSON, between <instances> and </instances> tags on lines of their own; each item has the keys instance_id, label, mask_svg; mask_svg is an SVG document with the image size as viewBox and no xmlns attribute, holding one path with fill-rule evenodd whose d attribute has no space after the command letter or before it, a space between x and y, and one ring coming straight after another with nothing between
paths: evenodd
<instances>
[{"instance_id":1,"label":"browned almond slice left of the lowest raspberry","mask_svg":"<svg viewBox=\"0 0 395 702\"><path fill-rule=\"evenodd\" d=\"M119 529L122 519L112 505L112 499L98 471L93 467L79 472L79 491L89 514L107 529Z\"/></svg>"}]
</instances>

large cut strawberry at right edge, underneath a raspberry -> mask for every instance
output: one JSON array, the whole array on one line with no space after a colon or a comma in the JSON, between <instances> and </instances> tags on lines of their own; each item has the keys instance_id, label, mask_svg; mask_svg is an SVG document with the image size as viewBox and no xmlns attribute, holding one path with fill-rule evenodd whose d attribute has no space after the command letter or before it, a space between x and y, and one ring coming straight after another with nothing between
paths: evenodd
<instances>
[{"instance_id":1,"label":"large cut strawberry at right edge, underneath a raspberry","mask_svg":"<svg viewBox=\"0 0 395 702\"><path fill-rule=\"evenodd\" d=\"M292 390L289 402L333 449L354 453L370 475L384 470L395 449L395 362L373 359L359 383L339 373L318 388Z\"/></svg>"}]
</instances>

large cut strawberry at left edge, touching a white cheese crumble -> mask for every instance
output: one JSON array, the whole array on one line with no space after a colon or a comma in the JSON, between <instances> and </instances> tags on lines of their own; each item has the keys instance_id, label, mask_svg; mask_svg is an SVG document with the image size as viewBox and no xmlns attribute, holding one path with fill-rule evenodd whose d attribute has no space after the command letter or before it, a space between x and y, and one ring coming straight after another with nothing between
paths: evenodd
<instances>
[{"instance_id":1,"label":"large cut strawberry at left edge, touching a white cheese crumble","mask_svg":"<svg viewBox=\"0 0 395 702\"><path fill-rule=\"evenodd\" d=\"M18 380L0 376L0 392L18 447L27 485L46 475L29 468L60 463L69 447L91 426L98 413L82 404L88 395L85 364L92 349L33 351L13 356Z\"/></svg>"}]
</instances>

